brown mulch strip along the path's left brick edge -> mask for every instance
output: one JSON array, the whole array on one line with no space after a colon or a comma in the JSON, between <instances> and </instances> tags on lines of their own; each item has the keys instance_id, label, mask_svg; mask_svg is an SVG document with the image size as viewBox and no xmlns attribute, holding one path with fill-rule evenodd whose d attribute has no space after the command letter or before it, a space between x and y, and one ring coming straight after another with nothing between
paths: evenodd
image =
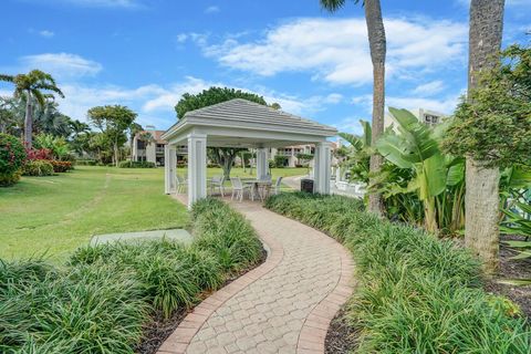
<instances>
[{"instance_id":1,"label":"brown mulch strip along the path's left brick edge","mask_svg":"<svg viewBox=\"0 0 531 354\"><path fill-rule=\"evenodd\" d=\"M253 264L249 269L246 269L231 278L227 279L227 281L223 283L223 287L227 287L230 284L232 281L237 280L248 271L253 270L257 267L260 267L268 257L268 253L266 252L264 249L262 249L262 258L257 264ZM220 289L221 289L220 288ZM204 294L201 299L207 299L210 295ZM188 313L190 313L194 309L183 309L181 311L178 311L174 313L174 315L168 319L164 320L162 313L156 313L152 317L152 322L148 323L144 330L144 339L142 342L138 344L136 347L135 352L138 354L155 354L160 345L163 345L164 341L174 333L175 329L179 325L179 323L186 317Z\"/></svg>"}]
</instances>

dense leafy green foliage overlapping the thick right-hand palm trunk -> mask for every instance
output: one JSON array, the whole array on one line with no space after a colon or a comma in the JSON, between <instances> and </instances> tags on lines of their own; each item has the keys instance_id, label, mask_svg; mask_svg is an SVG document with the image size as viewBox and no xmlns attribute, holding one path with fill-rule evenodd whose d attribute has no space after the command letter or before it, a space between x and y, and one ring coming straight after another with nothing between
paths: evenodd
<instances>
[{"instance_id":1,"label":"dense leafy green foliage overlapping the thick right-hand palm trunk","mask_svg":"<svg viewBox=\"0 0 531 354\"><path fill-rule=\"evenodd\" d=\"M530 164L531 48L508 48L479 81L457 107L445 149L487 166Z\"/></svg>"}]
</instances>

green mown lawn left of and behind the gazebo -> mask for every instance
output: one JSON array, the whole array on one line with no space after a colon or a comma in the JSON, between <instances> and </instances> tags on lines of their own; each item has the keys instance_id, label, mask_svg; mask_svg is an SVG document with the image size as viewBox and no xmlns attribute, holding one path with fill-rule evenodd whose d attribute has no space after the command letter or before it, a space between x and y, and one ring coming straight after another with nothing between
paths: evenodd
<instances>
[{"instance_id":1,"label":"green mown lawn left of and behind the gazebo","mask_svg":"<svg viewBox=\"0 0 531 354\"><path fill-rule=\"evenodd\" d=\"M179 174L186 169L179 168ZM221 174L208 168L208 176ZM273 168L278 176L305 175L305 168ZM231 176L252 177L241 168ZM52 177L22 177L0 188L0 259L45 254L67 259L93 235L185 228L186 207L164 195L164 168L76 166Z\"/></svg>"}]
</instances>

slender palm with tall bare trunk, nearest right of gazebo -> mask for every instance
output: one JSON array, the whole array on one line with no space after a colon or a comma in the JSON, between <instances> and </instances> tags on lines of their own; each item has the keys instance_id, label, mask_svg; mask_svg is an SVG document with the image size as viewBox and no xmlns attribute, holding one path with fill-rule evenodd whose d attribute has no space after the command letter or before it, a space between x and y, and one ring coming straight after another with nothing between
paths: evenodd
<instances>
[{"instance_id":1,"label":"slender palm with tall bare trunk, nearest right of gazebo","mask_svg":"<svg viewBox=\"0 0 531 354\"><path fill-rule=\"evenodd\" d=\"M335 12L345 6L346 0L320 0L321 6ZM360 0L354 0L355 3ZM384 133L384 110L385 110L385 52L386 40L384 21L382 20L382 7L379 0L364 0L365 22L367 23L368 44L371 48L371 60L373 62L373 132L372 140L376 142ZM379 171L383 157L378 154L371 156L371 173ZM382 215L382 195L372 192L368 197L368 209L372 212Z\"/></svg>"}]
</instances>

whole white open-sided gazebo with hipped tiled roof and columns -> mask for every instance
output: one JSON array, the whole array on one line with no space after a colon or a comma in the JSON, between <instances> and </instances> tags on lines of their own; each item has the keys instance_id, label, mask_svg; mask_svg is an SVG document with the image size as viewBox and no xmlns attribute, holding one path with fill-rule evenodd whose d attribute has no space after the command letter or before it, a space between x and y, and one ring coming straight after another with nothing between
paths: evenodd
<instances>
[{"instance_id":1,"label":"whole white open-sided gazebo with hipped tiled roof and columns","mask_svg":"<svg viewBox=\"0 0 531 354\"><path fill-rule=\"evenodd\" d=\"M166 131L165 192L176 190L177 147L188 147L188 207L207 196L207 147L257 149L257 178L268 175L267 149L314 144L314 191L330 194L331 145L337 129L242 98L190 111Z\"/></svg>"}]
</instances>

